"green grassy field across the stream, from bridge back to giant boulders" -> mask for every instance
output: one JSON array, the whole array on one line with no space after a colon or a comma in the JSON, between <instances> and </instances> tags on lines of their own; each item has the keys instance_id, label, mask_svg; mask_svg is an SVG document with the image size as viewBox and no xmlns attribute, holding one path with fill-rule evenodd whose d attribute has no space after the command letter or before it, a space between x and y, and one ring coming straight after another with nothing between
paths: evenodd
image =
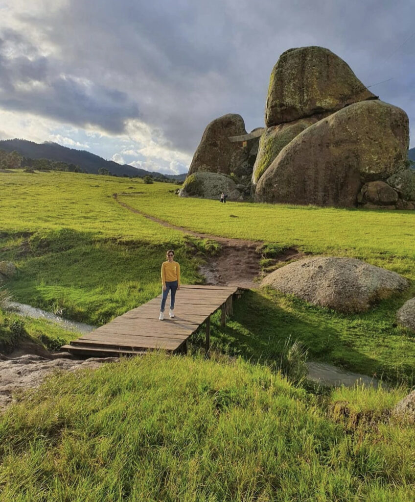
<instances>
[{"instance_id":1,"label":"green grassy field across the stream, from bridge back to giant boulders","mask_svg":"<svg viewBox=\"0 0 415 502\"><path fill-rule=\"evenodd\" d=\"M296 246L305 253L360 258L404 275L412 284L408 291L360 315L312 307L271 290L247 294L227 328L214 323L213 342L222 351L264 360L278 357L290 336L304 344L310 358L413 381L415 339L395 322L396 310L415 294L413 212L225 205L182 199L174 195L175 185L138 179L57 172L0 176L0 212L7 214L0 252L19 267L8 285L17 301L101 325L159 293L160 263L169 247L176 250L183 281L202 280L197 265L215 252L212 242L121 207L113 198L117 193L130 206L177 225L261 240L268 253ZM3 332L10 337L9 327ZM47 346L58 344L54 336Z\"/></svg>"}]
</instances>

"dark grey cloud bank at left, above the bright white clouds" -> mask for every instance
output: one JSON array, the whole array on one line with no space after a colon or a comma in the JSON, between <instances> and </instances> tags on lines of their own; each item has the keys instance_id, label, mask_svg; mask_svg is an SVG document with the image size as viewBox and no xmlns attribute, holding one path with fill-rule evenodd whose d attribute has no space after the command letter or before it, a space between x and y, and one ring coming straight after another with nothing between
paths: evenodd
<instances>
[{"instance_id":1,"label":"dark grey cloud bank at left, above the bright white clouds","mask_svg":"<svg viewBox=\"0 0 415 502\"><path fill-rule=\"evenodd\" d=\"M8 35L7 43L19 39L11 30ZM139 116L137 104L125 92L58 73L64 65L51 58L34 53L7 57L5 46L5 39L0 40L0 107L78 126L94 124L112 133L122 133L125 120Z\"/></svg>"}]
</instances>

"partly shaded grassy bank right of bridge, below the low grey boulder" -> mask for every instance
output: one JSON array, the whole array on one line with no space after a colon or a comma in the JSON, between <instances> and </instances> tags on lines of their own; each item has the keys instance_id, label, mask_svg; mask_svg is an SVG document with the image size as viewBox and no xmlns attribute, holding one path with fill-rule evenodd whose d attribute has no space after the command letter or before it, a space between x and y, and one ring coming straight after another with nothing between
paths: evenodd
<instances>
[{"instance_id":1,"label":"partly shaded grassy bank right of bridge, below the low grey boulder","mask_svg":"<svg viewBox=\"0 0 415 502\"><path fill-rule=\"evenodd\" d=\"M212 340L228 354L278 362L291 337L308 350L309 359L410 383L415 339L394 322L391 306L399 301L382 302L360 315L342 315L275 292L249 291L235 303L227 326L220 326L219 316L214 318Z\"/></svg>"}]
</instances>

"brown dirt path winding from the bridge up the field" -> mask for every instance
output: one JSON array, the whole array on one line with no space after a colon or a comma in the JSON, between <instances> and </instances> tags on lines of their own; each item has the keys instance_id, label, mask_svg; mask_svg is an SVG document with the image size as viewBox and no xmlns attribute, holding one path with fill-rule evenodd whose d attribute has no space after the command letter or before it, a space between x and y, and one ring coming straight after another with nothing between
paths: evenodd
<instances>
[{"instance_id":1,"label":"brown dirt path winding from the bridge up the field","mask_svg":"<svg viewBox=\"0 0 415 502\"><path fill-rule=\"evenodd\" d=\"M140 214L167 228L179 230L180 232L194 237L215 240L221 244L221 251L216 256L209 258L206 264L199 268L200 274L206 278L206 284L215 286L240 286L249 289L258 287L262 274L260 266L261 254L257 249L263 244L262 241L232 239L207 233L194 232L188 228L176 226L167 221L155 218L154 216L149 216L119 200L118 195L124 194L114 193L112 196L118 204L133 213ZM297 249L287 249L284 253L281 253L280 256L275 258L275 263L287 262L293 259L300 259L301 257L302 255Z\"/></svg>"}]
</instances>

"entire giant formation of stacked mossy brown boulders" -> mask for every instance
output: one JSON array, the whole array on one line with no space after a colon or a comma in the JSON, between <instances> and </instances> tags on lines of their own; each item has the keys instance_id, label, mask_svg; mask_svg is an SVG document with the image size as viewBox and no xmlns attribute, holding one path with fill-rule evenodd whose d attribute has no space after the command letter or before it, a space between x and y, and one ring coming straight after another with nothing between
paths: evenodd
<instances>
[{"instance_id":1,"label":"entire giant formation of stacked mossy brown boulders","mask_svg":"<svg viewBox=\"0 0 415 502\"><path fill-rule=\"evenodd\" d=\"M240 115L211 122L181 195L191 195L192 175L209 172L232 177L240 194L233 198L250 192L257 202L414 209L406 113L380 101L328 49L301 47L280 56L265 123L247 135Z\"/></svg>"}]
</instances>

